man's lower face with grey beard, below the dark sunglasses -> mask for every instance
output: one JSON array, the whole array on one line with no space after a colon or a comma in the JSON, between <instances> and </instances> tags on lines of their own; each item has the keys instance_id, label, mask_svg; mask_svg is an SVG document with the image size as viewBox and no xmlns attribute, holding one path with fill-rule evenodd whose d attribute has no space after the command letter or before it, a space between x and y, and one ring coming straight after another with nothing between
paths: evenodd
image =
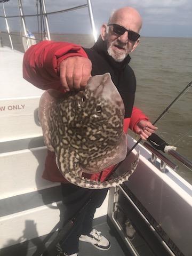
<instances>
[{"instance_id":1,"label":"man's lower face with grey beard, below the dark sunglasses","mask_svg":"<svg viewBox=\"0 0 192 256\"><path fill-rule=\"evenodd\" d=\"M126 28L126 27L125 27ZM131 41L128 37L128 32L121 36L117 35L113 31L113 26L107 28L106 42L108 54L113 57L117 62L123 61L127 55L132 52L139 43L138 41Z\"/></svg>"}]
</instances>

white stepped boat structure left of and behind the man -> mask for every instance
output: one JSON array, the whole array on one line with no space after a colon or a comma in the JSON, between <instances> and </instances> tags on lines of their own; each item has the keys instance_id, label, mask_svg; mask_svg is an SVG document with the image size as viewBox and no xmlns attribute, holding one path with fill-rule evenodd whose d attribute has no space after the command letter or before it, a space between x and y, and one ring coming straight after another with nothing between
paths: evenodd
<instances>
[{"instance_id":1,"label":"white stepped boat structure left of and behind the man","mask_svg":"<svg viewBox=\"0 0 192 256\"><path fill-rule=\"evenodd\" d=\"M59 184L42 179L47 149L38 103L43 91L22 78L23 53L0 47L0 55L0 254L27 256L42 249L59 222L61 198ZM107 214L107 199L95 218Z\"/></svg>"}]
</instances>

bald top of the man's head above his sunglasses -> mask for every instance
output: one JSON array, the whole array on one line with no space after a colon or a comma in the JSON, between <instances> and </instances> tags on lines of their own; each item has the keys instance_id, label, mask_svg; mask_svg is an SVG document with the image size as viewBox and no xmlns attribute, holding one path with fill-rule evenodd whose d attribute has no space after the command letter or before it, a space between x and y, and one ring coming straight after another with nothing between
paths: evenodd
<instances>
[{"instance_id":1,"label":"bald top of the man's head above his sunglasses","mask_svg":"<svg viewBox=\"0 0 192 256\"><path fill-rule=\"evenodd\" d=\"M126 28L131 26L133 31L139 32L142 27L142 18L137 10L127 6L113 12L109 18L109 23L117 23Z\"/></svg>"}]
</instances>

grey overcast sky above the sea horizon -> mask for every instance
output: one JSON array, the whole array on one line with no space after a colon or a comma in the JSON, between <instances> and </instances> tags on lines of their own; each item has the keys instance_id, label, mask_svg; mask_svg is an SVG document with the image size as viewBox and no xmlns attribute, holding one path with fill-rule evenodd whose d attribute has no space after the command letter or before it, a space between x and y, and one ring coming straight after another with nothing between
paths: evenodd
<instances>
[{"instance_id":1,"label":"grey overcast sky above the sea horizon","mask_svg":"<svg viewBox=\"0 0 192 256\"><path fill-rule=\"evenodd\" d=\"M86 3L86 0L45 0L47 12L68 9ZM17 0L5 3L7 15L18 14ZM1 4L0 4L1 5ZM123 6L135 7L143 18L142 36L192 37L192 1L191 0L92 0L93 15L99 33L103 22L108 21L110 13ZM25 14L36 13L36 0L23 0ZM3 15L2 6L0 13ZM49 15L51 33L91 33L88 10ZM18 30L21 21L9 19L10 29ZM26 18L27 27L37 31L37 20ZM0 30L5 29L0 19Z\"/></svg>"}]
</instances>

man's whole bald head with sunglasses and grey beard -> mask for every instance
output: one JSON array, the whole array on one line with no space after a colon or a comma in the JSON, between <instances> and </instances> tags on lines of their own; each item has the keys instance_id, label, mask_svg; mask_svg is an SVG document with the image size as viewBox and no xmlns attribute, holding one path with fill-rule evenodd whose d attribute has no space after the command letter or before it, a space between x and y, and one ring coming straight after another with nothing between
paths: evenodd
<instances>
[{"instance_id":1,"label":"man's whole bald head with sunglasses and grey beard","mask_svg":"<svg viewBox=\"0 0 192 256\"><path fill-rule=\"evenodd\" d=\"M101 38L106 41L107 52L115 61L122 62L136 49L140 42L141 26L141 16L132 7L116 10L111 14L108 25L102 25Z\"/></svg>"}]
</instances>

